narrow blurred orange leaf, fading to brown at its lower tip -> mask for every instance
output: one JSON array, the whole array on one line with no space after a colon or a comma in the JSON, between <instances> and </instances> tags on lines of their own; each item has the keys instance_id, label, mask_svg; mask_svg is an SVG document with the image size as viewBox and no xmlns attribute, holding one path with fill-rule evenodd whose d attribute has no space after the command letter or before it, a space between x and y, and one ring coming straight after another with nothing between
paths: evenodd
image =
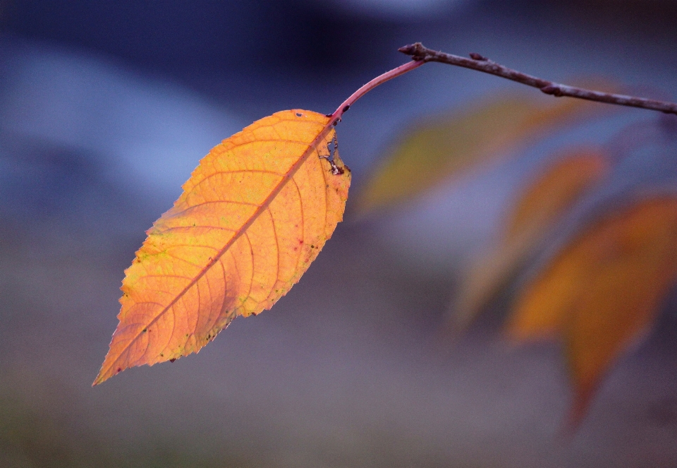
<instances>
[{"instance_id":1,"label":"narrow blurred orange leaf, fading to brown at its lower tip","mask_svg":"<svg viewBox=\"0 0 677 468\"><path fill-rule=\"evenodd\" d=\"M508 216L506 236L468 273L453 304L450 322L462 331L523 265L568 208L609 173L601 150L578 149L552 162L530 181Z\"/></svg>"}]
</instances>

